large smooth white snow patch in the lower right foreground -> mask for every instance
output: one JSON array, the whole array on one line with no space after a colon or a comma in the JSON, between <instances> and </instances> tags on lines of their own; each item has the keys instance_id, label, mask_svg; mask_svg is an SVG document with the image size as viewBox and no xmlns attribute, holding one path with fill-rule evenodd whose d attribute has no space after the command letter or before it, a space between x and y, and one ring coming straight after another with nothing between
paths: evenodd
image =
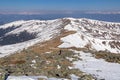
<instances>
[{"instance_id":1,"label":"large smooth white snow patch in the lower right foreground","mask_svg":"<svg viewBox=\"0 0 120 80\"><path fill-rule=\"evenodd\" d=\"M80 58L82 60L75 61L73 63L74 68L92 74L98 79L120 80L120 64L109 63L103 59L96 59L91 53L84 53L82 51L76 52L80 53Z\"/></svg>"}]
</instances>

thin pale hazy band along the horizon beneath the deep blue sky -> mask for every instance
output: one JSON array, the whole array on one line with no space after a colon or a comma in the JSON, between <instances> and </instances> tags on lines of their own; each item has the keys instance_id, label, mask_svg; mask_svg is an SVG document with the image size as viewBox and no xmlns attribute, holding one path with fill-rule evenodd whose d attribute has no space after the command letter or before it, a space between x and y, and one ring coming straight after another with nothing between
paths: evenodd
<instances>
[{"instance_id":1,"label":"thin pale hazy band along the horizon beneath the deep blue sky","mask_svg":"<svg viewBox=\"0 0 120 80\"><path fill-rule=\"evenodd\" d=\"M120 10L115 11L72 11L72 10L41 10L41 11L1 11L0 14L19 14L19 15L44 15L44 14L120 14Z\"/></svg>"}]
</instances>

